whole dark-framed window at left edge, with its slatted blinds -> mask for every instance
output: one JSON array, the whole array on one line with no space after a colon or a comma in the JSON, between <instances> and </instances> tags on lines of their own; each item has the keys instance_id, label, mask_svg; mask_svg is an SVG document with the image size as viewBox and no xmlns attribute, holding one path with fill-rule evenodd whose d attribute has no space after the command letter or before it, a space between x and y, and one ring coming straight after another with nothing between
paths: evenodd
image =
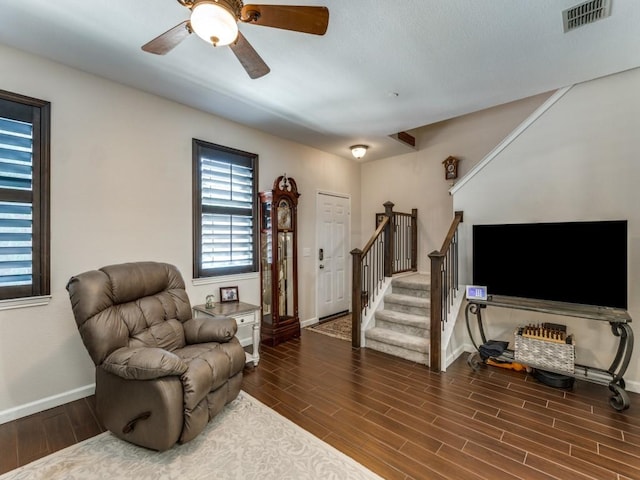
<instances>
[{"instance_id":1,"label":"whole dark-framed window at left edge, with its slatted blinds","mask_svg":"<svg viewBox=\"0 0 640 480\"><path fill-rule=\"evenodd\" d=\"M50 104L0 91L0 299L49 292Z\"/></svg>"}]
</instances>

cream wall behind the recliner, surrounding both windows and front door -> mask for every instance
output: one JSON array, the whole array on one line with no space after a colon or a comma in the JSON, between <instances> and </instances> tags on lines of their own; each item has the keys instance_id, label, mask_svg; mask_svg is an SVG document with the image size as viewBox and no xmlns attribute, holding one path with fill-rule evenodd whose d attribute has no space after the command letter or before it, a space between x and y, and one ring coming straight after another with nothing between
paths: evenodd
<instances>
[{"instance_id":1,"label":"cream wall behind the recliner, surrounding both windows and front door","mask_svg":"<svg viewBox=\"0 0 640 480\"><path fill-rule=\"evenodd\" d=\"M0 46L0 65L0 89L52 103L53 297L48 306L0 311L0 421L90 393L93 364L65 290L74 274L125 261L166 261L181 270L193 304L221 285L238 285L242 301L259 304L257 275L192 285L194 137L257 153L260 190L285 172L296 179L299 253L314 250L318 189L351 195L352 241L360 243L356 162L8 47ZM313 259L299 257L303 321L316 316Z\"/></svg>"}]
</instances>

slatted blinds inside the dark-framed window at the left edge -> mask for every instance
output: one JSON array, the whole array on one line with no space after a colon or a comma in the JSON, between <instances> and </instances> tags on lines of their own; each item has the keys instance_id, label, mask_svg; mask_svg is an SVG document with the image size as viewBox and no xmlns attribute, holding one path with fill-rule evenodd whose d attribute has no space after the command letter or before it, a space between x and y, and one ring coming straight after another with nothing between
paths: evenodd
<instances>
[{"instance_id":1,"label":"slatted blinds inside the dark-framed window at the left edge","mask_svg":"<svg viewBox=\"0 0 640 480\"><path fill-rule=\"evenodd\" d=\"M31 192L33 127L0 118L0 192ZM31 285L33 264L31 203L0 201L0 287Z\"/></svg>"}]
</instances>

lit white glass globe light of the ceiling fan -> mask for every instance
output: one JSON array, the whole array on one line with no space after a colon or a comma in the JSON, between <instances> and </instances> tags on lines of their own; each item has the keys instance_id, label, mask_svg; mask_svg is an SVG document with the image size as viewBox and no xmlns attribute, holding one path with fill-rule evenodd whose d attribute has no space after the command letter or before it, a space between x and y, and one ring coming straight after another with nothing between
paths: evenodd
<instances>
[{"instance_id":1,"label":"lit white glass globe light of the ceiling fan","mask_svg":"<svg viewBox=\"0 0 640 480\"><path fill-rule=\"evenodd\" d=\"M191 28L214 47L229 45L238 38L238 21L224 1L201 0L191 9Z\"/></svg>"}]
</instances>

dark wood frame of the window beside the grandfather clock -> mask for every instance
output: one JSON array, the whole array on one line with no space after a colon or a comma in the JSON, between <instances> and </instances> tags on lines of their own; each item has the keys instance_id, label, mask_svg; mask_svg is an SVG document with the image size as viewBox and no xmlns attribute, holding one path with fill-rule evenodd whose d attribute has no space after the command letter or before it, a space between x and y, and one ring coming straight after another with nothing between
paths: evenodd
<instances>
[{"instance_id":1,"label":"dark wood frame of the window beside the grandfather clock","mask_svg":"<svg viewBox=\"0 0 640 480\"><path fill-rule=\"evenodd\" d=\"M243 162L237 162L237 165L243 165L247 162L251 165L253 172L252 178L252 255L253 261L251 265L232 266L219 269L202 268L202 156L204 152L220 152L223 154L232 154L242 157ZM243 273L255 273L259 268L259 212L258 212L258 155L255 153L245 152L231 147L225 147L204 140L194 138L192 140L192 159L193 159L193 278L217 278L228 275L236 275ZM234 163L234 162L230 162ZM231 213L231 210L229 210Z\"/></svg>"}]
</instances>

